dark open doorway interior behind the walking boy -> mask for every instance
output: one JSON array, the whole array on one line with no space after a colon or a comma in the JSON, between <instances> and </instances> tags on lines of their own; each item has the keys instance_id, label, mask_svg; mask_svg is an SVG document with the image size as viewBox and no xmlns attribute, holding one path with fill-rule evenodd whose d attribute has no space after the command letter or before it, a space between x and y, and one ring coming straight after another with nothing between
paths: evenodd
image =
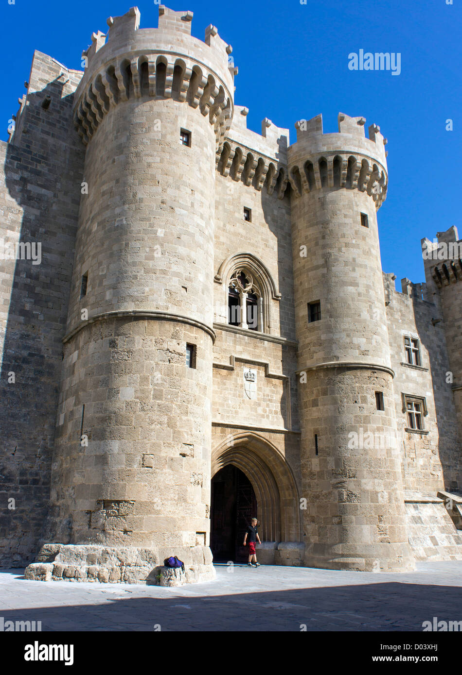
<instances>
[{"instance_id":1,"label":"dark open doorway interior behind the walking boy","mask_svg":"<svg viewBox=\"0 0 462 675\"><path fill-rule=\"evenodd\" d=\"M253 517L258 518L252 483L244 472L229 464L212 478L210 549L215 562L248 560L248 547L242 542Z\"/></svg>"}]
</instances>

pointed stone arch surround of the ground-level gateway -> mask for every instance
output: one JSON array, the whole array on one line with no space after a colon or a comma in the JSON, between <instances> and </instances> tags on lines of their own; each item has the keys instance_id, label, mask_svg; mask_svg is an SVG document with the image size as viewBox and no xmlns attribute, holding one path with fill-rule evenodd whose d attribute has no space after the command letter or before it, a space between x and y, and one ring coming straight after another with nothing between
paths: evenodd
<instances>
[{"instance_id":1,"label":"pointed stone arch surround of the ground-level gateway","mask_svg":"<svg viewBox=\"0 0 462 675\"><path fill-rule=\"evenodd\" d=\"M232 464L248 477L256 495L262 541L302 541L300 499L294 475L281 452L264 437L243 432L212 451L211 478Z\"/></svg>"}]
</instances>

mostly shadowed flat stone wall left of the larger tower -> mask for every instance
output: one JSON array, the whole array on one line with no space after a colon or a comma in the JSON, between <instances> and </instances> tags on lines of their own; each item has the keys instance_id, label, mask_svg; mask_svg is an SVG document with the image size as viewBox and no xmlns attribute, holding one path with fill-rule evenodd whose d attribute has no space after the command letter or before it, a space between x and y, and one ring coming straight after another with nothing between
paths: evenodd
<instances>
[{"instance_id":1,"label":"mostly shadowed flat stone wall left of the larger tower","mask_svg":"<svg viewBox=\"0 0 462 675\"><path fill-rule=\"evenodd\" d=\"M83 167L83 148L72 126L72 93L80 77L80 72L36 51L16 132L0 148L0 237L41 245L40 264L31 259L0 261L1 566L20 567L33 559L49 513ZM49 105L42 107L47 97ZM9 373L14 373L14 383ZM14 510L8 508L10 498Z\"/></svg>"}]
</instances>

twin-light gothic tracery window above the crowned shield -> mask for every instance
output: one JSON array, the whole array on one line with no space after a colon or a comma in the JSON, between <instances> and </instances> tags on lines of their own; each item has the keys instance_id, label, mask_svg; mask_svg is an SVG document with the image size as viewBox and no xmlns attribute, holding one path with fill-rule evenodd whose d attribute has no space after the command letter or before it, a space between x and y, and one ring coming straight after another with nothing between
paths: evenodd
<instances>
[{"instance_id":1,"label":"twin-light gothic tracery window above the crowned shield","mask_svg":"<svg viewBox=\"0 0 462 675\"><path fill-rule=\"evenodd\" d=\"M236 270L229 280L228 323L251 331L263 330L262 294L245 269Z\"/></svg>"}]
</instances>

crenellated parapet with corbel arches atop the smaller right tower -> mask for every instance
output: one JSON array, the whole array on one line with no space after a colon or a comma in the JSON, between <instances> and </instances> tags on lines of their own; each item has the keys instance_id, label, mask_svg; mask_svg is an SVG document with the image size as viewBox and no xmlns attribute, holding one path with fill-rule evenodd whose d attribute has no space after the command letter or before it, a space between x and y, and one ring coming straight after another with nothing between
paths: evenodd
<instances>
[{"instance_id":1,"label":"crenellated parapet with corbel arches atop the smaller right tower","mask_svg":"<svg viewBox=\"0 0 462 675\"><path fill-rule=\"evenodd\" d=\"M288 180L296 196L321 188L367 192L379 209L386 198L386 139L375 124L365 138L364 117L338 115L338 134L323 134L317 115L296 123L297 140L287 149Z\"/></svg>"}]
</instances>

